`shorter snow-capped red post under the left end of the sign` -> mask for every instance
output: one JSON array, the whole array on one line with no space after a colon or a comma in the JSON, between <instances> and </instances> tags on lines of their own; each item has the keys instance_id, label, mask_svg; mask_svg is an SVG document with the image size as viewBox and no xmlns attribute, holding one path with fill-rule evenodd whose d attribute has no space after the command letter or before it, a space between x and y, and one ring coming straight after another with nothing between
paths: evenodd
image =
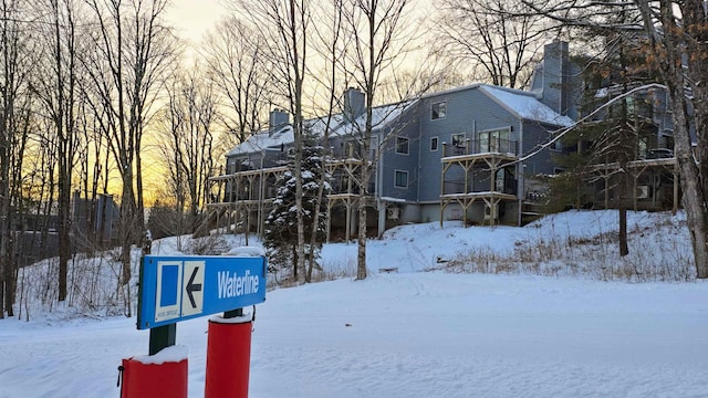
<instances>
[{"instance_id":1,"label":"shorter snow-capped red post under the left end of the sign","mask_svg":"<svg viewBox=\"0 0 708 398\"><path fill-rule=\"evenodd\" d=\"M121 398L187 398L187 347L123 359Z\"/></svg>"}]
</instances>

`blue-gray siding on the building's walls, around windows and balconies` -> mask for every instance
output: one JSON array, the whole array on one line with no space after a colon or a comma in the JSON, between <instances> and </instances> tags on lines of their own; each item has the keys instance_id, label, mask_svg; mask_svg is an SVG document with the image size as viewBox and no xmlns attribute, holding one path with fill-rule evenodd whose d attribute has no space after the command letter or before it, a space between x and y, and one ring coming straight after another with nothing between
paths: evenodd
<instances>
[{"instance_id":1,"label":"blue-gray siding on the building's walls, around windows and balconies","mask_svg":"<svg viewBox=\"0 0 708 398\"><path fill-rule=\"evenodd\" d=\"M431 118L433 104L445 103L445 116L436 119ZM555 129L553 126L543 126L537 122L521 122L504 104L497 103L488 96L479 86L472 85L460 87L448 92L442 92L426 96L410 106L397 122L393 122L382 129L375 130L378 140L383 143L378 161L374 164L375 172L369 181L369 193L376 193L384 198L394 198L407 205L398 203L400 209L398 222L406 221L430 221L439 218L440 187L441 187L441 161L444 156L451 156L451 145L454 135L464 135L470 142L473 149L478 149L477 140L482 132L508 129L509 140L517 143L516 154L522 155L533 150L539 143L544 143L549 138L549 130ZM408 139L408 153L396 153L396 138ZM330 138L330 147L335 157L348 156L347 148L358 138L358 134L333 136ZM437 148L431 148L431 142L437 140ZM348 144L347 144L348 143ZM447 143L448 151L445 153ZM357 157L358 148L354 145L354 156ZM513 151L513 150L502 150ZM533 174L553 174L554 166L551 158L552 150L545 149L531 159L524 161L522 172L518 166L511 166L510 181L507 187L514 189L518 184L517 195L525 195L523 188L523 177ZM264 166L273 166L271 159L282 156L278 151L267 151ZM461 154L460 154L461 155ZM242 154L238 160L229 158L229 171L233 172L239 165L258 168L261 164L261 153ZM396 187L396 172L407 172L407 187ZM452 188L460 192L464 181L464 170L459 167L451 167L446 174L446 190ZM516 180L514 180L516 179ZM455 181L459 186L448 184ZM512 184L513 182L513 184ZM374 188L376 185L376 188ZM490 187L489 174L478 174L473 181L470 181L469 191L488 191ZM509 188L508 188L509 189ZM507 191L513 193L513 191ZM448 191L448 193L451 191ZM513 219L518 212L514 203L506 203L502 211L506 211L502 219ZM482 214L482 203L476 203L470 209L470 214ZM450 205L446 210L444 219L461 217L456 205Z\"/></svg>"}]
</instances>

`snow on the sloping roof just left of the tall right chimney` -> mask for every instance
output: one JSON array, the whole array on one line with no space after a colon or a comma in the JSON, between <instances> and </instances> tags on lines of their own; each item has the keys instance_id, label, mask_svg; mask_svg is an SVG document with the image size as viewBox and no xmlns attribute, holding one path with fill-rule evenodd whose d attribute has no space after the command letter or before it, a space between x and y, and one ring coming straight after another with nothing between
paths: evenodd
<instances>
[{"instance_id":1,"label":"snow on the sloping roof just left of the tall right chimney","mask_svg":"<svg viewBox=\"0 0 708 398\"><path fill-rule=\"evenodd\" d=\"M571 126L573 124L573 119L568 116L562 116L542 104L532 93L486 84L480 85L479 88L499 103L499 105L523 119L556 126Z\"/></svg>"}]
</instances>

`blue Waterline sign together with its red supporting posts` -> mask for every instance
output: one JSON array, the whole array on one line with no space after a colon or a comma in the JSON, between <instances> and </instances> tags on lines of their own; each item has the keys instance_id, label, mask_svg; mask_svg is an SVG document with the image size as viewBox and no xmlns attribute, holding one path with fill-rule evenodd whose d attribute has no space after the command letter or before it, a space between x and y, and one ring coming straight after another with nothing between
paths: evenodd
<instances>
[{"instance_id":1,"label":"blue Waterline sign together with its red supporting posts","mask_svg":"<svg viewBox=\"0 0 708 398\"><path fill-rule=\"evenodd\" d=\"M217 313L223 313L221 320L229 321L209 324L205 388L208 397L248 396L253 318L246 320L243 307L266 301L268 270L264 253L257 250L254 254L253 249L249 249L242 251L242 255L144 255L140 263L137 328L150 329L150 356L175 345L178 322ZM210 363L215 365L209 367ZM184 391L180 389L184 396L187 394L186 366L185 360L178 368L185 374ZM127 367L124 371L124 380L137 381L131 381L122 391L137 391L138 396L149 388L159 389L160 386L155 385L158 379L174 378L163 377L171 371L167 368L149 370L160 374L158 379L147 373L135 377Z\"/></svg>"}]
</instances>

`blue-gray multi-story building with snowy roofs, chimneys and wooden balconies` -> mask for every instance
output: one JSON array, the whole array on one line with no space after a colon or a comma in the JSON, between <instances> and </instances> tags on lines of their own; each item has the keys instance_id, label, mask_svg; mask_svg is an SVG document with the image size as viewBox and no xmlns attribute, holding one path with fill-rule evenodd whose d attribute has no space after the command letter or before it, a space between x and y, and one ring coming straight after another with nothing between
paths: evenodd
<instances>
[{"instance_id":1,"label":"blue-gray multi-story building with snowy roofs, chimneys and wooden balconies","mask_svg":"<svg viewBox=\"0 0 708 398\"><path fill-rule=\"evenodd\" d=\"M522 224L538 216L534 176L561 170L552 154L562 154L554 134L574 124L584 90L581 69L569 57L568 43L545 45L528 91L471 84L424 95L412 102L373 109L371 159L375 172L367 187L367 223L378 234L407 222L461 220L477 224ZM330 122L334 176L329 196L331 233L348 239L360 198L355 178L361 166L360 126L364 94L344 93L344 106ZM322 135L324 118L305 122ZM261 230L275 195L273 182L287 169L293 143L289 115L270 114L267 130L227 154L226 174L210 179L211 222ZM534 153L532 157L527 154ZM214 224L212 224L214 227Z\"/></svg>"}]
</instances>

